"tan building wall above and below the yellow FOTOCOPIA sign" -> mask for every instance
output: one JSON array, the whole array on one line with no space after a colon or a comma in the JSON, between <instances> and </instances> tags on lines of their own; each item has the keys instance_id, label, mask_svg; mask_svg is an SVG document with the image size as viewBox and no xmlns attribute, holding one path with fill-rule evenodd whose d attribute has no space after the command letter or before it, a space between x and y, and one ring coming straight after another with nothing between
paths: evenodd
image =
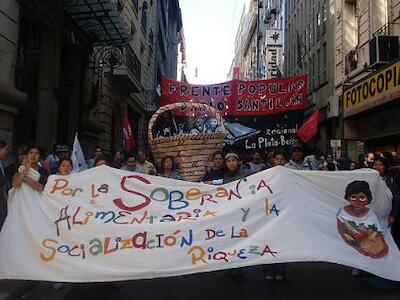
<instances>
[{"instance_id":1,"label":"tan building wall above and below the yellow FOTOCOPIA sign","mask_svg":"<svg viewBox=\"0 0 400 300\"><path fill-rule=\"evenodd\" d=\"M336 0L335 6L335 93L343 97L344 91L379 72L370 65L369 42L376 35L400 35L400 1ZM353 56L349 68L349 57ZM391 102L343 120L347 150L359 148L358 152L352 152L352 158L360 151L376 151L386 146L400 150L400 125L395 121L398 110L396 102ZM358 144L364 147L357 147Z\"/></svg>"}]
</instances>

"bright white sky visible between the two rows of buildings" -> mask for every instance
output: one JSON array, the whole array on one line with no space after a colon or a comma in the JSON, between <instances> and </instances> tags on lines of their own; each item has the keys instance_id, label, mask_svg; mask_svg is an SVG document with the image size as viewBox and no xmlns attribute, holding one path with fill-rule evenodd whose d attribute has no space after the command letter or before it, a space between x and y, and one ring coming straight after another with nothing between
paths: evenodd
<instances>
[{"instance_id":1,"label":"bright white sky visible between the two rows of buildings","mask_svg":"<svg viewBox=\"0 0 400 300\"><path fill-rule=\"evenodd\" d=\"M227 81L235 50L236 31L247 2L248 0L179 1L190 83Z\"/></svg>"}]
</instances>

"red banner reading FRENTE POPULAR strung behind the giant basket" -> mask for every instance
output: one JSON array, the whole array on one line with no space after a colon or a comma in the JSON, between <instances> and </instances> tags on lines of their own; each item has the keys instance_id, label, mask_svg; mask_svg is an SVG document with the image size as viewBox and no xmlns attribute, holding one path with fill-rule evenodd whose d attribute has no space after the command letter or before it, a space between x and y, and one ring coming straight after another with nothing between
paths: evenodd
<instances>
[{"instance_id":1,"label":"red banner reading FRENTE POPULAR strung behind the giant basket","mask_svg":"<svg viewBox=\"0 0 400 300\"><path fill-rule=\"evenodd\" d=\"M192 85L163 77L160 105L193 101L206 103L223 116L265 116L303 110L306 96L307 75L212 85Z\"/></svg>"}]
</instances>

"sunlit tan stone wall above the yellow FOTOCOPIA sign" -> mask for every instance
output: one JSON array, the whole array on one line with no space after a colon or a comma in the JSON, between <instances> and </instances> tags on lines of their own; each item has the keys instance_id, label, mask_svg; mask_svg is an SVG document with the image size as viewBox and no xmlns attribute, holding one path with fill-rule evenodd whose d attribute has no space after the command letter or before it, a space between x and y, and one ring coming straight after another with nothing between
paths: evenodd
<instances>
[{"instance_id":1,"label":"sunlit tan stone wall above the yellow FOTOCOPIA sign","mask_svg":"<svg viewBox=\"0 0 400 300\"><path fill-rule=\"evenodd\" d=\"M336 0L335 88L341 95L343 84L349 85L371 73L368 69L369 41L376 34L400 34L399 0ZM356 50L357 67L346 73L345 59Z\"/></svg>"}]
</instances>

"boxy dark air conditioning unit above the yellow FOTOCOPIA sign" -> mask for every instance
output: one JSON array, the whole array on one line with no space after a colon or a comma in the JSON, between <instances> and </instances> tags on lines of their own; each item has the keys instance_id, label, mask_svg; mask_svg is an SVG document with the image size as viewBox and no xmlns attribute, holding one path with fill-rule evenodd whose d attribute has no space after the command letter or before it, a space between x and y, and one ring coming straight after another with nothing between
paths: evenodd
<instances>
[{"instance_id":1,"label":"boxy dark air conditioning unit above the yellow FOTOCOPIA sign","mask_svg":"<svg viewBox=\"0 0 400 300\"><path fill-rule=\"evenodd\" d=\"M370 67L378 69L382 65L399 58L399 37L376 35L369 41Z\"/></svg>"}]
</instances>

